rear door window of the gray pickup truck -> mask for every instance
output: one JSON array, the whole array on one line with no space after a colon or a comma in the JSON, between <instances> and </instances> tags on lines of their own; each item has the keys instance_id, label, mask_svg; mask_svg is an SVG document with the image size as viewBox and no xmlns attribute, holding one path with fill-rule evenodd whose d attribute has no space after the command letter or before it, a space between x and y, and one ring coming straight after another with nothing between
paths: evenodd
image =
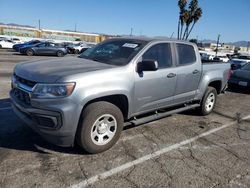
<instances>
[{"instance_id":1,"label":"rear door window of the gray pickup truck","mask_svg":"<svg viewBox=\"0 0 250 188\"><path fill-rule=\"evenodd\" d=\"M196 61L194 47L188 44L176 44L179 65L187 65Z\"/></svg>"}]
</instances>

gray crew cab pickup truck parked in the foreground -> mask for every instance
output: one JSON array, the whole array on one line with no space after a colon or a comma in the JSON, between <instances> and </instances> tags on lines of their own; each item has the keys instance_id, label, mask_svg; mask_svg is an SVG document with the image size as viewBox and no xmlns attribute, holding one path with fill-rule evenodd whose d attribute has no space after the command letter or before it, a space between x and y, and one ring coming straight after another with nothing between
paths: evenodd
<instances>
[{"instance_id":1,"label":"gray crew cab pickup truck parked in the foreground","mask_svg":"<svg viewBox=\"0 0 250 188\"><path fill-rule=\"evenodd\" d=\"M47 141L99 153L117 142L125 124L189 109L211 113L229 74L227 63L202 64L189 42L115 38L79 57L18 64L10 98L14 112Z\"/></svg>"}]
</instances>

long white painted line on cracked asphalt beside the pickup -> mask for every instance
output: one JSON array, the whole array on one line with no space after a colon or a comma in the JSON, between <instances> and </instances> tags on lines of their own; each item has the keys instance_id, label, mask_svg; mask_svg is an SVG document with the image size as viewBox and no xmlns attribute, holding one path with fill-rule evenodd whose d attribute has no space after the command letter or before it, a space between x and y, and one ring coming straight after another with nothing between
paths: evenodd
<instances>
[{"instance_id":1,"label":"long white painted line on cracked asphalt beside the pickup","mask_svg":"<svg viewBox=\"0 0 250 188\"><path fill-rule=\"evenodd\" d=\"M245 116L245 117L242 118L242 120L247 120L247 119L250 119L250 115ZM91 178L88 178L88 179L86 179L84 181L81 181L81 182L79 182L77 184L73 184L70 187L71 188L81 188L81 187L86 187L88 185L94 184L95 182L97 182L99 180L106 179L106 178L108 178L110 176L113 176L115 174L118 174L118 173L120 173L120 172L122 172L122 171L124 171L126 169L129 169L129 168L131 168L131 167L133 167L135 165L141 164L141 163L143 163L145 161L148 161L150 159L158 157L158 156L160 156L162 154L165 154L167 152L170 152L172 150L176 150L176 149L178 149L178 148L180 148L180 147L182 147L184 145L190 144L191 142L194 142L194 141L196 141L196 140L198 140L200 138L206 137L206 136L208 136L210 134L213 134L213 133L215 133L217 131L220 131L222 129L225 129L227 127L230 127L230 126L232 126L232 125L234 125L236 123L237 123L237 121L233 121L233 122L230 122L228 124L222 125L222 126L220 126L218 128L211 129L211 130L209 130L207 132L204 132L204 133L202 133L200 135L197 135L195 137L192 137L190 139L184 140L182 142L176 143L176 144L171 145L171 146L167 146L167 147L162 148L162 149L160 149L158 151L155 151L155 152L153 152L151 154L148 154L148 155L145 155L143 157L140 157L140 158L138 158L138 159L136 159L134 161L125 163L125 164L123 164L121 166L118 166L118 167L113 168L111 170L108 170L106 172L103 172L103 173L100 173L98 175L95 175L95 176L93 176Z\"/></svg>"}]
</instances>

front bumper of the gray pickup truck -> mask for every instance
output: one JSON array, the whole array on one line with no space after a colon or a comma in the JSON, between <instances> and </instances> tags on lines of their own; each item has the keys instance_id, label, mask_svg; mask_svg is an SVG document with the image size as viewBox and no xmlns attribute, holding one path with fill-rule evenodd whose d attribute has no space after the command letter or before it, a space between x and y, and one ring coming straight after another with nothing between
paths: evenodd
<instances>
[{"instance_id":1,"label":"front bumper of the gray pickup truck","mask_svg":"<svg viewBox=\"0 0 250 188\"><path fill-rule=\"evenodd\" d=\"M20 101L15 96L13 89L10 91L10 98L15 114L45 140L63 147L74 145L79 120L74 104L69 105L58 101L60 105L55 105L53 101L50 101L44 103L47 107L41 106L39 108L39 105L35 102L34 106L37 107L34 107ZM73 116L73 114L76 116Z\"/></svg>"}]
</instances>

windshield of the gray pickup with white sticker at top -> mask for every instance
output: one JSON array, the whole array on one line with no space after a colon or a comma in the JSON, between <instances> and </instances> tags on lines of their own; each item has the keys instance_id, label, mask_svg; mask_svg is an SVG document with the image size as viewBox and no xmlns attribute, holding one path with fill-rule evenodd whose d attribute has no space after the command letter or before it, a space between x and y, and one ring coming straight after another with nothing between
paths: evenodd
<instances>
[{"instance_id":1,"label":"windshield of the gray pickup with white sticker at top","mask_svg":"<svg viewBox=\"0 0 250 188\"><path fill-rule=\"evenodd\" d=\"M80 58L122 66L128 64L145 44L146 41L142 40L108 40L89 48Z\"/></svg>"}]
</instances>

